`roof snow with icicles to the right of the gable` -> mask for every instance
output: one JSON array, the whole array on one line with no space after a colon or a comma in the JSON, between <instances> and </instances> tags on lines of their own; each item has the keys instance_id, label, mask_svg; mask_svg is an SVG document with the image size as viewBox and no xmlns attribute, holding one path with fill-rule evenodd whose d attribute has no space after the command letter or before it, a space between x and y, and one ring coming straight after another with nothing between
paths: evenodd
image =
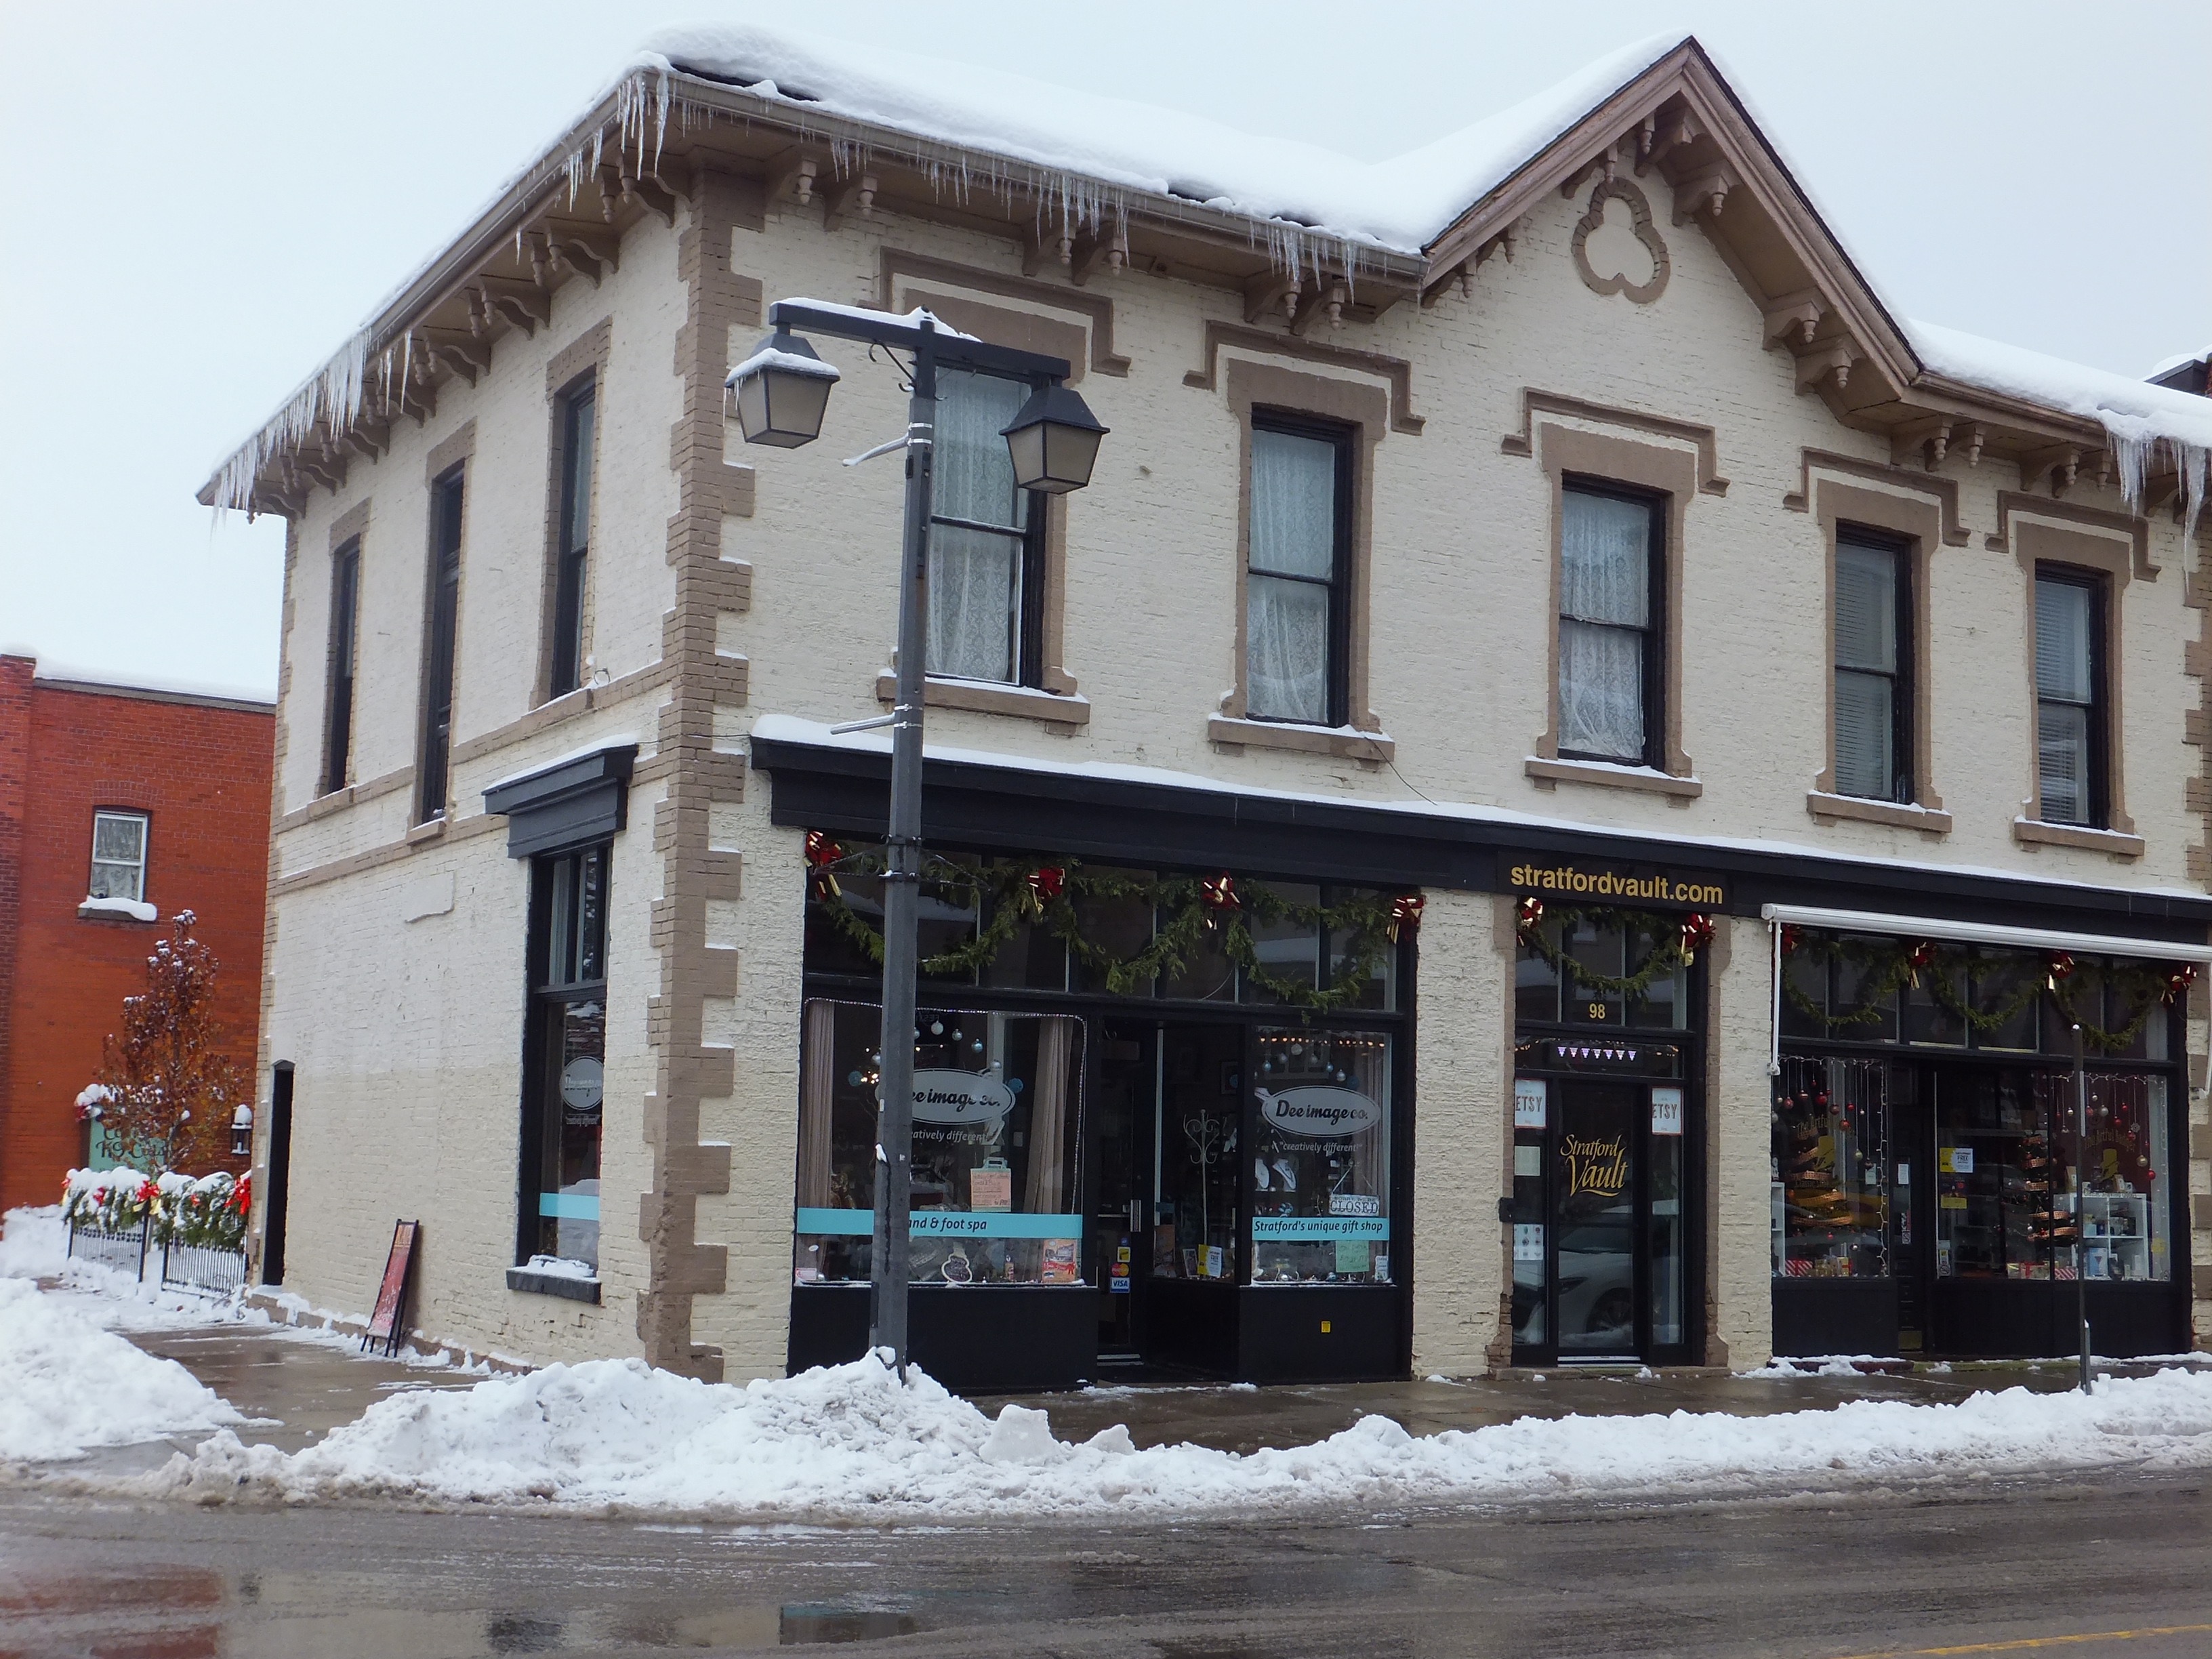
<instances>
[{"instance_id":1,"label":"roof snow with icicles to the right of the gable","mask_svg":"<svg viewBox=\"0 0 2212 1659\"><path fill-rule=\"evenodd\" d=\"M2104 425L2128 507L2141 504L2143 478L2161 462L2177 469L2190 533L2197 531L2212 458L2212 400L1936 323L1907 321L1905 334L1936 374Z\"/></svg>"}]
</instances>

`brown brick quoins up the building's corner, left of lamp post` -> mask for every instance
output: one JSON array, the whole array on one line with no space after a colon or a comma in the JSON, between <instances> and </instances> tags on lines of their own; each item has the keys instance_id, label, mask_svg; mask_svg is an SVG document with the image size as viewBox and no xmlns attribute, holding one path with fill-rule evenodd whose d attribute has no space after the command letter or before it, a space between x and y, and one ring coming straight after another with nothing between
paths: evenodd
<instances>
[{"instance_id":1,"label":"brown brick quoins up the building's corner, left of lamp post","mask_svg":"<svg viewBox=\"0 0 2212 1659\"><path fill-rule=\"evenodd\" d=\"M737 951L706 938L708 902L739 896L741 858L710 845L710 810L745 796L745 759L714 750L714 710L741 706L741 657L714 648L723 611L752 604L752 568L721 555L726 515L750 515L752 469L726 458L723 376L730 332L761 325L761 283L730 268L737 226L765 223L761 186L712 168L690 181L690 219L677 241L684 325L675 372L684 414L670 434L677 513L668 520L675 608L664 619L661 659L672 697L661 703L657 759L668 768L666 799L653 810L653 849L664 858L661 898L653 902L659 993L646 1006L655 1053L644 1133L653 1150L650 1190L639 1201L646 1287L637 1294L637 1336L646 1358L670 1371L721 1380L719 1347L692 1340L692 1296L728 1287L728 1248L699 1243L699 1194L730 1190L730 1148L699 1144L706 1099L737 1091L728 1048L706 1044L706 1000L737 995Z\"/></svg>"}]
</instances>

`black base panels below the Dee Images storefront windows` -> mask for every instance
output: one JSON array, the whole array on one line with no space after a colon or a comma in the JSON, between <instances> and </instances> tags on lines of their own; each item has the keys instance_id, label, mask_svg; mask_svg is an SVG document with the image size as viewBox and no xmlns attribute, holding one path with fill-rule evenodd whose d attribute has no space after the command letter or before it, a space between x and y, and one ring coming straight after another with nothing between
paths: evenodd
<instances>
[{"instance_id":1,"label":"black base panels below the Dee Images storefront windows","mask_svg":"<svg viewBox=\"0 0 2212 1659\"><path fill-rule=\"evenodd\" d=\"M1365 1383L1405 1376L1405 1292L1352 1285L1146 1285L1148 1360L1239 1383ZM1071 1389L1099 1374L1091 1285L916 1285L914 1363L949 1389ZM792 1290L790 1369L867 1352L867 1285Z\"/></svg>"}]
</instances>

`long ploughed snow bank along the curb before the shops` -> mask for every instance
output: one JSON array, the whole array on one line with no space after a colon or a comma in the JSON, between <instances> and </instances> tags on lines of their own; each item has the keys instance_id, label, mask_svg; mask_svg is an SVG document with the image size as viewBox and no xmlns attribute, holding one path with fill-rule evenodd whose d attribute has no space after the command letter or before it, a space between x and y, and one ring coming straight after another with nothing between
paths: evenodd
<instances>
[{"instance_id":1,"label":"long ploughed snow bank along the curb before the shops","mask_svg":"<svg viewBox=\"0 0 2212 1659\"><path fill-rule=\"evenodd\" d=\"M745 1387L591 1360L380 1400L290 1455L217 1433L148 1480L199 1500L956 1520L1728 1491L1825 1484L1838 1471L1893 1480L2115 1462L2212 1462L2212 1378L2161 1371L2093 1398L2008 1389L1960 1405L1854 1402L1767 1418L1524 1418L1427 1438L1363 1418L1318 1444L1237 1455L1137 1451L1121 1427L1068 1444L1042 1411L1009 1405L993 1422L927 1376L898 1383L874 1358Z\"/></svg>"}]
</instances>

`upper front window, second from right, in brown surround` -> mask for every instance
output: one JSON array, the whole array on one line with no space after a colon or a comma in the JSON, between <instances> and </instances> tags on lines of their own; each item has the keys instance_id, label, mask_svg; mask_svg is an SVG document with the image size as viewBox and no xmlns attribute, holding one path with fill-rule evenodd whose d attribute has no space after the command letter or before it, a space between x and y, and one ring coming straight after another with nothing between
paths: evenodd
<instances>
[{"instance_id":1,"label":"upper front window, second from right, in brown surround","mask_svg":"<svg viewBox=\"0 0 2212 1659\"><path fill-rule=\"evenodd\" d=\"M1913 799L1909 549L1836 535L1836 794Z\"/></svg>"}]
</instances>

